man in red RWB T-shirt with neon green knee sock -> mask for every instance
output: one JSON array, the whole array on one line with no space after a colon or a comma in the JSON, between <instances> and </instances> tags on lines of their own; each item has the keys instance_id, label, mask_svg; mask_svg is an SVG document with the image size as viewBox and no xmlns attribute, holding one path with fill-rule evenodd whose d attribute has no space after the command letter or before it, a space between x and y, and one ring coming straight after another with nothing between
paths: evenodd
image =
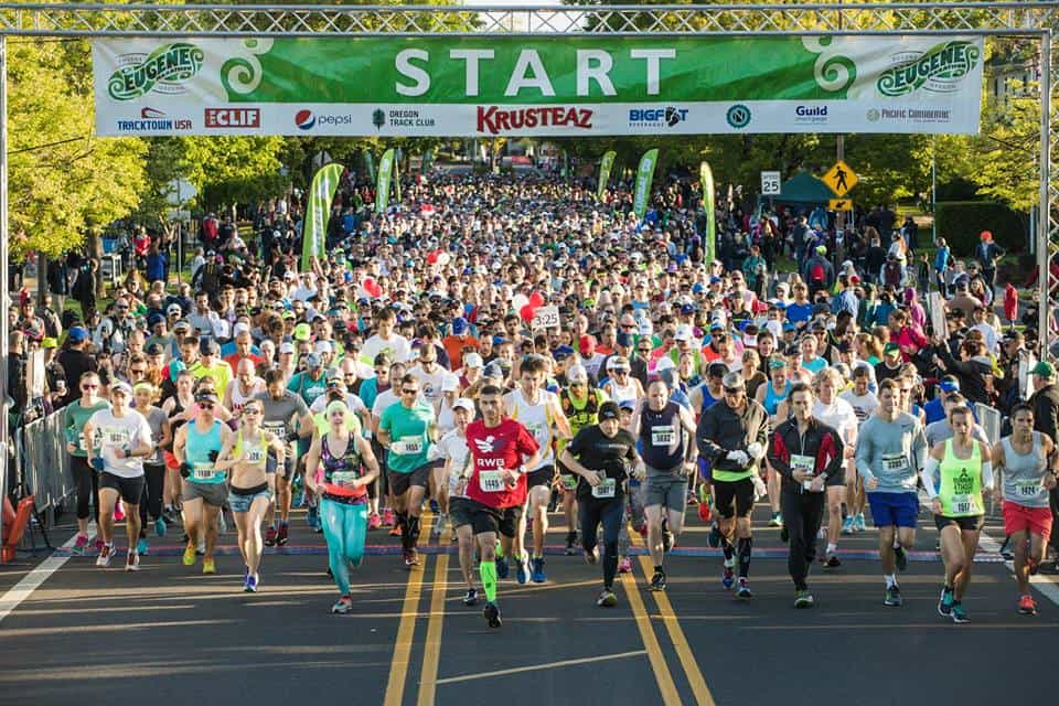
<instances>
[{"instance_id":1,"label":"man in red RWB T-shirt with neon green knee sock","mask_svg":"<svg viewBox=\"0 0 1059 706\"><path fill-rule=\"evenodd\" d=\"M511 550L515 526L526 502L526 469L541 462L541 448L524 426L503 416L503 391L486 385L479 394L482 419L467 426L470 478L467 483L468 514L478 541L478 566L485 591L482 614L490 628L500 628L496 606L496 534L501 535L501 556ZM506 573L506 571L504 571ZM500 578L505 578L501 576Z\"/></svg>"}]
</instances>

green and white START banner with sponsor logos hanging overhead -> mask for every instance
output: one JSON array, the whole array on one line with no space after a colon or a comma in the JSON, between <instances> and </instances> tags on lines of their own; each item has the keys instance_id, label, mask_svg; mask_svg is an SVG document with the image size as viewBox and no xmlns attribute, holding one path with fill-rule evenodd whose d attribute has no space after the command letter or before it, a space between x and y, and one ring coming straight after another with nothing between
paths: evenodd
<instances>
[{"instance_id":1,"label":"green and white START banner with sponsor logos hanging overhead","mask_svg":"<svg viewBox=\"0 0 1059 706\"><path fill-rule=\"evenodd\" d=\"M978 130L984 40L335 36L93 43L99 135Z\"/></svg>"}]
</instances>

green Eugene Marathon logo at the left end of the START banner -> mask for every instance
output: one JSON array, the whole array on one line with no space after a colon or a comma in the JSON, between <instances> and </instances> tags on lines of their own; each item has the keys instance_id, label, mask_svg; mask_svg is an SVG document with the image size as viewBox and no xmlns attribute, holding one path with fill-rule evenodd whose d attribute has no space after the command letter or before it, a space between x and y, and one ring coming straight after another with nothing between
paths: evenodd
<instances>
[{"instance_id":1,"label":"green Eugene Marathon logo at the left end of the START banner","mask_svg":"<svg viewBox=\"0 0 1059 706\"><path fill-rule=\"evenodd\" d=\"M107 81L107 93L115 100L133 100L151 90L164 94L184 93L181 85L202 68L205 53L188 43L160 46L149 55L122 54L124 64Z\"/></svg>"}]
</instances>

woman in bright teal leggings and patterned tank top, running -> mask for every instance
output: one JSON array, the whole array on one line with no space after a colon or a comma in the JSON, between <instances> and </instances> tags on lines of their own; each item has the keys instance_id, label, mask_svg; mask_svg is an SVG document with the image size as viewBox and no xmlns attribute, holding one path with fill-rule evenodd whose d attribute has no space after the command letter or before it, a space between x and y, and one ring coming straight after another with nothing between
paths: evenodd
<instances>
[{"instance_id":1,"label":"woman in bright teal leggings and patterned tank top, running","mask_svg":"<svg viewBox=\"0 0 1059 706\"><path fill-rule=\"evenodd\" d=\"M306 485L320 494L320 518L328 542L331 574L339 587L333 613L353 609L350 596L350 564L360 566L367 537L367 486L378 477L378 462L366 439L352 434L343 402L327 408L329 430L312 440L306 456Z\"/></svg>"}]
</instances>

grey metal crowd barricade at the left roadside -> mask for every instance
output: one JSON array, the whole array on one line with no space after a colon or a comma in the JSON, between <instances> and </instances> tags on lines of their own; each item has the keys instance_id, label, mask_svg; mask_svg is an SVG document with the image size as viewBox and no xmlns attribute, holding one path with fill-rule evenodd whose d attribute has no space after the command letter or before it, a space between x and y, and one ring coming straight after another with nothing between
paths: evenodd
<instances>
[{"instance_id":1,"label":"grey metal crowd barricade at the left roadside","mask_svg":"<svg viewBox=\"0 0 1059 706\"><path fill-rule=\"evenodd\" d=\"M23 464L25 492L35 495L36 510L45 526L54 526L58 506L75 491L65 448L63 411L32 421L20 431L15 435L20 447L17 458Z\"/></svg>"}]
</instances>

